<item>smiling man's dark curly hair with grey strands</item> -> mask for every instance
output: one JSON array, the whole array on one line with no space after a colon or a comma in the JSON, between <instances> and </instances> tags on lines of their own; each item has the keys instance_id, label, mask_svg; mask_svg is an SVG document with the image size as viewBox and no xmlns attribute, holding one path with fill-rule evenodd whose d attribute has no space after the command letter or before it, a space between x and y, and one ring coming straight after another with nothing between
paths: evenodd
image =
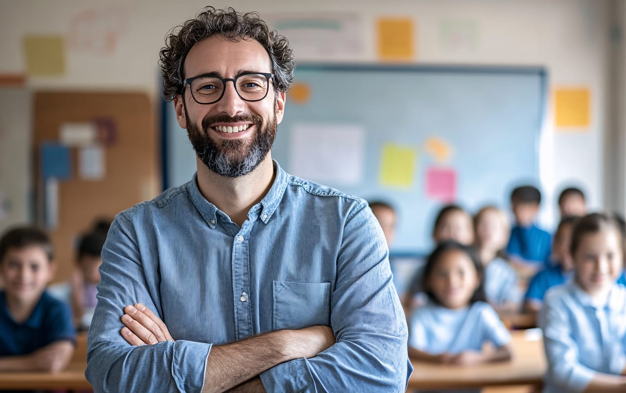
<instances>
[{"instance_id":1,"label":"smiling man's dark curly hair with grey strands","mask_svg":"<svg viewBox=\"0 0 626 393\"><path fill-rule=\"evenodd\" d=\"M294 55L289 41L270 30L258 13L238 13L233 8L206 7L194 19L188 19L170 30L161 49L159 66L163 76L163 98L172 101L182 94L183 65L192 46L198 41L220 34L231 41L257 40L270 57L274 89L287 91L294 79Z\"/></svg>"}]
</instances>

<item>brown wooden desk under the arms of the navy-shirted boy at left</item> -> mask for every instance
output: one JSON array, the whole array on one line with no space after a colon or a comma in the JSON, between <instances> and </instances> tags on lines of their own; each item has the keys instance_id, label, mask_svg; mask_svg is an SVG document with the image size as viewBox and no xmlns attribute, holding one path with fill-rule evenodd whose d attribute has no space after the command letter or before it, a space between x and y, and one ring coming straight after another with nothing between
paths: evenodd
<instances>
[{"instance_id":1,"label":"brown wooden desk under the arms of the navy-shirted boy at left","mask_svg":"<svg viewBox=\"0 0 626 393\"><path fill-rule=\"evenodd\" d=\"M68 367L62 372L6 372L0 373L0 390L85 390L91 385L85 379L87 368L87 335L76 337L76 349Z\"/></svg>"}]
</instances>

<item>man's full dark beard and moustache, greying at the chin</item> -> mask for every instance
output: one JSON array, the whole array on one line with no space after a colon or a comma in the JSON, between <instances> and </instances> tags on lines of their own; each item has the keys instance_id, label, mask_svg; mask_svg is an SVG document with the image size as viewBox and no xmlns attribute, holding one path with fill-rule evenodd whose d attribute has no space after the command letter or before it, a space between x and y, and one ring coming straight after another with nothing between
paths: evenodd
<instances>
[{"instance_id":1,"label":"man's full dark beard and moustache, greying at the chin","mask_svg":"<svg viewBox=\"0 0 626 393\"><path fill-rule=\"evenodd\" d=\"M276 106L276 103L274 103ZM202 120L202 130L190 121L185 105L185 121L187 122L187 136L192 143L198 158L207 168L221 176L239 177L247 175L259 166L269 153L276 137L276 113L263 124L258 115L242 113L237 116L225 114L209 116ZM210 136L210 125L215 123L237 123L245 121L256 127L252 141L247 140L218 140L213 141Z\"/></svg>"}]
</instances>

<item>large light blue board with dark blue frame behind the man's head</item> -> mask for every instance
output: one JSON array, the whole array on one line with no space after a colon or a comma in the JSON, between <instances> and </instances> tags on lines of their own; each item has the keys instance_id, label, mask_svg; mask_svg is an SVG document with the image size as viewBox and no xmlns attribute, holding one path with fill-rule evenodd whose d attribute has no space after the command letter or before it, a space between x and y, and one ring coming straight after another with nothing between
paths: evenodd
<instances>
[{"instance_id":1,"label":"large light blue board with dark blue frame behind the man's head","mask_svg":"<svg viewBox=\"0 0 626 393\"><path fill-rule=\"evenodd\" d=\"M545 100L543 68L299 64L272 156L294 175L391 203L392 249L424 253L443 203L508 208L513 185L538 182ZM196 163L164 108L174 186Z\"/></svg>"}]
</instances>

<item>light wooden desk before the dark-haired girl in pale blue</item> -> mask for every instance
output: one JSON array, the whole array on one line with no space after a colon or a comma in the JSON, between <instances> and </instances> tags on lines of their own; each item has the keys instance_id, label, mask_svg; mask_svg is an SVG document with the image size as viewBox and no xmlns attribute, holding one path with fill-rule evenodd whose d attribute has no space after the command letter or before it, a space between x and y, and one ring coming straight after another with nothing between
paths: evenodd
<instances>
[{"instance_id":1,"label":"light wooden desk before the dark-haired girl in pale blue","mask_svg":"<svg viewBox=\"0 0 626 393\"><path fill-rule=\"evenodd\" d=\"M536 330L533 330L536 335ZM476 366L433 364L412 360L414 371L409 379L409 389L459 389L501 385L543 384L546 360L543 343L526 340L526 330L511 332L513 359L509 362ZM530 334L528 334L530 338Z\"/></svg>"}]
</instances>

